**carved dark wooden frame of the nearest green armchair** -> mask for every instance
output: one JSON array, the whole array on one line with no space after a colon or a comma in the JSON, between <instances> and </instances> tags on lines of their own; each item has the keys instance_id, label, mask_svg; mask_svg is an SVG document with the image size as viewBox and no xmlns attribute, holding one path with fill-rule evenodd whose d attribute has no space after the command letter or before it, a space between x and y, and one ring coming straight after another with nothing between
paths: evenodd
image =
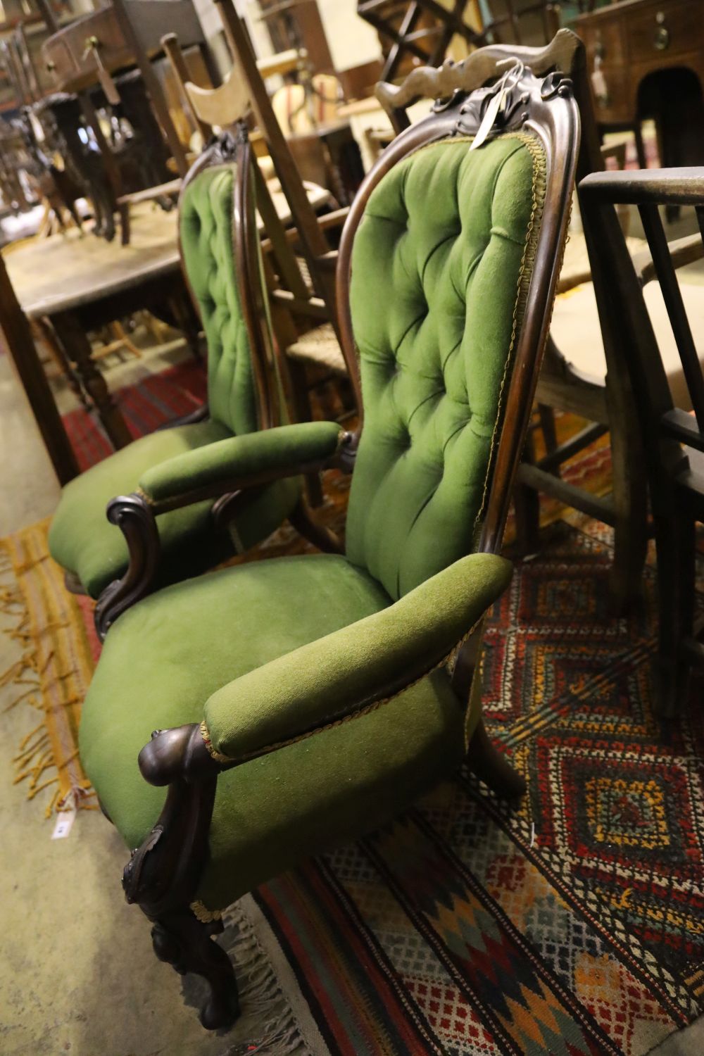
<instances>
[{"instance_id":1,"label":"carved dark wooden frame of the nearest green armchair","mask_svg":"<svg viewBox=\"0 0 704 1056\"><path fill-rule=\"evenodd\" d=\"M497 91L497 87L490 82L496 81L497 76L505 72L502 59L502 55L499 58L478 52L452 71L424 71L420 76L414 74L414 92L422 91L436 98L435 111L424 121L400 135L381 155L351 207L338 263L338 310L343 352L360 397L348 286L351 245L365 204L382 176L415 150L458 134L476 133ZM538 56L540 71L554 71L557 64L554 49L547 49ZM475 91L477 89L479 91ZM526 315L505 397L503 428L493 460L492 483L478 547L482 551L498 551L501 544L512 483L528 427L537 365L547 339L549 306L557 284L576 164L578 127L578 111L570 81L558 72L537 80L525 70L508 98L500 131L530 129L540 138L547 164L546 197ZM363 422L360 421L355 434L343 434L338 452L326 465L337 465L348 472L354 469L362 428ZM269 478L294 471L291 467L272 470ZM233 479L231 490L236 490L239 483ZM220 487L229 490L230 482L221 483ZM461 647L455 664L453 687L462 700L469 700L472 692L479 634L476 631ZM387 692L388 686L381 687L378 698L384 699ZM522 778L493 748L482 722L479 722L473 737L469 760L474 771L498 794L515 795L524 791ZM222 924L218 921L202 923L190 908L207 862L217 775L228 769L228 765L216 761L209 754L199 727L192 724L156 731L139 755L139 767L146 780L156 786L168 786L168 793L153 831L133 852L125 870L123 887L128 902L138 903L154 922L152 938L157 957L172 963L178 972L196 972L208 981L210 993L201 1015L204 1025L210 1029L229 1025L239 1012L234 972L224 950L209 941L211 936L222 930Z\"/></svg>"}]
</instances>

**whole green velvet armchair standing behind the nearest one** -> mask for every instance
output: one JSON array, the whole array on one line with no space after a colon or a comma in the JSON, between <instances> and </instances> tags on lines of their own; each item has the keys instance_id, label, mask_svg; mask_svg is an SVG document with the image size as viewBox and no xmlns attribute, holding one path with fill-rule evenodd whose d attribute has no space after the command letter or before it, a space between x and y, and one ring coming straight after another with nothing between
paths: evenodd
<instances>
[{"instance_id":1,"label":"whole green velvet armchair standing behind the nearest one","mask_svg":"<svg viewBox=\"0 0 704 1056\"><path fill-rule=\"evenodd\" d=\"M97 599L100 637L155 585L247 550L294 510L303 510L298 476L271 480L236 498L221 495L217 502L182 505L157 517L138 492L142 474L160 473L164 484L167 467L174 459L177 465L178 456L207 456L213 445L281 420L283 402L262 309L252 187L242 126L196 162L180 195L183 266L208 346L208 408L196 413L199 420L192 416L134 440L72 480L52 522L51 553L66 570L70 589Z\"/></svg>"}]
</instances>

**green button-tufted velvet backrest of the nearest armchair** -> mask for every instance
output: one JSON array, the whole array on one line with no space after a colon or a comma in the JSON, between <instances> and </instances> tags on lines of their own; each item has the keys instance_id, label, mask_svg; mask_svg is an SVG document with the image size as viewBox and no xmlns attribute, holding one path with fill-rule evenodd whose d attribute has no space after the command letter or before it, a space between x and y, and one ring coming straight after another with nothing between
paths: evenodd
<instances>
[{"instance_id":1,"label":"green button-tufted velvet backrest of the nearest armchair","mask_svg":"<svg viewBox=\"0 0 704 1056\"><path fill-rule=\"evenodd\" d=\"M347 553L393 598L473 547L536 155L515 135L423 148L377 186L355 239L364 430Z\"/></svg>"}]
</instances>

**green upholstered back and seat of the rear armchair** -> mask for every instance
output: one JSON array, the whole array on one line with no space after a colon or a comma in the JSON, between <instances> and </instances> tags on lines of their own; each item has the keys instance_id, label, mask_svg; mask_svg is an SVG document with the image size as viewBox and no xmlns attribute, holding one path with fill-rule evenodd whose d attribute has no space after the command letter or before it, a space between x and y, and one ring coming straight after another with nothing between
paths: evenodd
<instances>
[{"instance_id":1,"label":"green upholstered back and seat of the rear armchair","mask_svg":"<svg viewBox=\"0 0 704 1056\"><path fill-rule=\"evenodd\" d=\"M252 318L244 300L252 296L244 286L247 249L247 275L263 281L254 210L252 206L246 223L241 220L235 225L244 163L237 166L240 155L231 140L229 146L228 140L223 144L198 159L178 207L183 266L207 340L208 417L157 430L82 473L63 489L52 522L52 555L96 599L123 576L129 562L122 532L106 517L112 498L134 492L147 470L176 455L280 421L275 362L262 362L268 320ZM243 231L249 240L245 245ZM252 254L256 254L254 266ZM215 530L212 501L159 514L157 585L201 572L266 539L291 512L300 494L299 479L275 482L237 511L228 531Z\"/></svg>"}]
</instances>

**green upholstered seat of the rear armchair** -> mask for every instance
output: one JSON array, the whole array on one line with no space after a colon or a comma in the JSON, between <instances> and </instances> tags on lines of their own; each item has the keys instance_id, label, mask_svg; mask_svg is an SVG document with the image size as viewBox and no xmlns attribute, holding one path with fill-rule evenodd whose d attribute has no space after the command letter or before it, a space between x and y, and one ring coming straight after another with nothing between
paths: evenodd
<instances>
[{"instance_id":1,"label":"green upholstered seat of the rear armchair","mask_svg":"<svg viewBox=\"0 0 704 1056\"><path fill-rule=\"evenodd\" d=\"M230 436L217 421L164 429L134 440L65 486L49 534L52 557L74 572L93 598L127 568L128 551L119 528L106 517L115 495L134 491L154 465ZM291 511L300 494L297 479L278 482L239 514L239 547L266 539ZM212 567L232 552L232 544L212 530L212 502L197 503L157 517L163 548L161 582Z\"/></svg>"}]
</instances>

